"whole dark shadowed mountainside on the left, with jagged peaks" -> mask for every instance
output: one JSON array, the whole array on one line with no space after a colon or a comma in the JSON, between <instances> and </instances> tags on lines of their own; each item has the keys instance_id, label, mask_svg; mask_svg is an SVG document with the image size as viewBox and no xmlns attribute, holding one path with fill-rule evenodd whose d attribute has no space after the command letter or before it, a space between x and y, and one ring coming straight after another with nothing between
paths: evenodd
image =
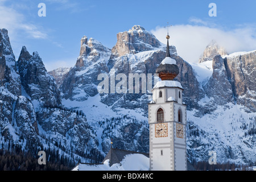
<instances>
[{"instance_id":1,"label":"whole dark shadowed mountainside on the left, with jagged peaks","mask_svg":"<svg viewBox=\"0 0 256 182\"><path fill-rule=\"evenodd\" d=\"M0 61L0 147L21 148L35 157L39 150L60 150L76 163L100 160L85 114L62 105L56 81L37 52L30 55L23 46L16 62L7 30L1 29Z\"/></svg>"}]
</instances>

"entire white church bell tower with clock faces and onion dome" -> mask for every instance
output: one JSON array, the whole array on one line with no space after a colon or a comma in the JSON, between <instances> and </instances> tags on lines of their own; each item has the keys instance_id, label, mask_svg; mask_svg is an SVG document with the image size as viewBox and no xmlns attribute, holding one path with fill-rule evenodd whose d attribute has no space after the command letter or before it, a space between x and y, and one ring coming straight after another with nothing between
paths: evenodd
<instances>
[{"instance_id":1,"label":"entire white church bell tower with clock faces and onion dome","mask_svg":"<svg viewBox=\"0 0 256 182\"><path fill-rule=\"evenodd\" d=\"M182 101L180 82L173 80L179 68L170 56L170 36L166 38L166 57L156 69L161 81L152 89L152 101L148 104L150 170L186 171L187 106Z\"/></svg>"}]
</instances>

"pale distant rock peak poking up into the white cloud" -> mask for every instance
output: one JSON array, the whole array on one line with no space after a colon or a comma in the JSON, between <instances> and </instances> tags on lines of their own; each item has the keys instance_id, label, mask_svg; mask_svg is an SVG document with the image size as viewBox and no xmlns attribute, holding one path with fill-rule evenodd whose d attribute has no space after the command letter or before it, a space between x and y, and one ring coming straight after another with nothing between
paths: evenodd
<instances>
[{"instance_id":1,"label":"pale distant rock peak poking up into the white cloud","mask_svg":"<svg viewBox=\"0 0 256 182\"><path fill-rule=\"evenodd\" d=\"M219 46L216 41L212 40L212 42L210 42L205 48L203 56L201 56L199 59L199 63L203 63L204 61L211 61L216 55L224 56L228 55L228 53L224 47Z\"/></svg>"}]
</instances>

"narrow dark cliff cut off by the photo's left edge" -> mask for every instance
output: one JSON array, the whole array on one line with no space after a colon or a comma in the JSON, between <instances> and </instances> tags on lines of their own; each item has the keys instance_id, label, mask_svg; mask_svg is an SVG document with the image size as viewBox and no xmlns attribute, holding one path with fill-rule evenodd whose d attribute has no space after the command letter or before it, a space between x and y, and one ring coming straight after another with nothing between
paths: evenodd
<instances>
[{"instance_id":1,"label":"narrow dark cliff cut off by the photo's left edge","mask_svg":"<svg viewBox=\"0 0 256 182\"><path fill-rule=\"evenodd\" d=\"M11 138L9 126L13 123L15 101L21 94L20 77L11 49L8 31L0 28L0 129L1 135Z\"/></svg>"}]
</instances>

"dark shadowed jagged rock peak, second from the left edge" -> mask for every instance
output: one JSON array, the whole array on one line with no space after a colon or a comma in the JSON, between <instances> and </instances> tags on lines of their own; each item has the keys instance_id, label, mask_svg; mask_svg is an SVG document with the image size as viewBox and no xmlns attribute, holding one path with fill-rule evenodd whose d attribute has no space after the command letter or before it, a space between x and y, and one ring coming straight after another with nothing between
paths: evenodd
<instances>
[{"instance_id":1,"label":"dark shadowed jagged rock peak, second from the left edge","mask_svg":"<svg viewBox=\"0 0 256 182\"><path fill-rule=\"evenodd\" d=\"M30 55L27 48L23 46L17 66L24 91L32 101L36 100L39 104L51 107L61 105L60 91L56 81L47 73L38 52Z\"/></svg>"}]
</instances>

